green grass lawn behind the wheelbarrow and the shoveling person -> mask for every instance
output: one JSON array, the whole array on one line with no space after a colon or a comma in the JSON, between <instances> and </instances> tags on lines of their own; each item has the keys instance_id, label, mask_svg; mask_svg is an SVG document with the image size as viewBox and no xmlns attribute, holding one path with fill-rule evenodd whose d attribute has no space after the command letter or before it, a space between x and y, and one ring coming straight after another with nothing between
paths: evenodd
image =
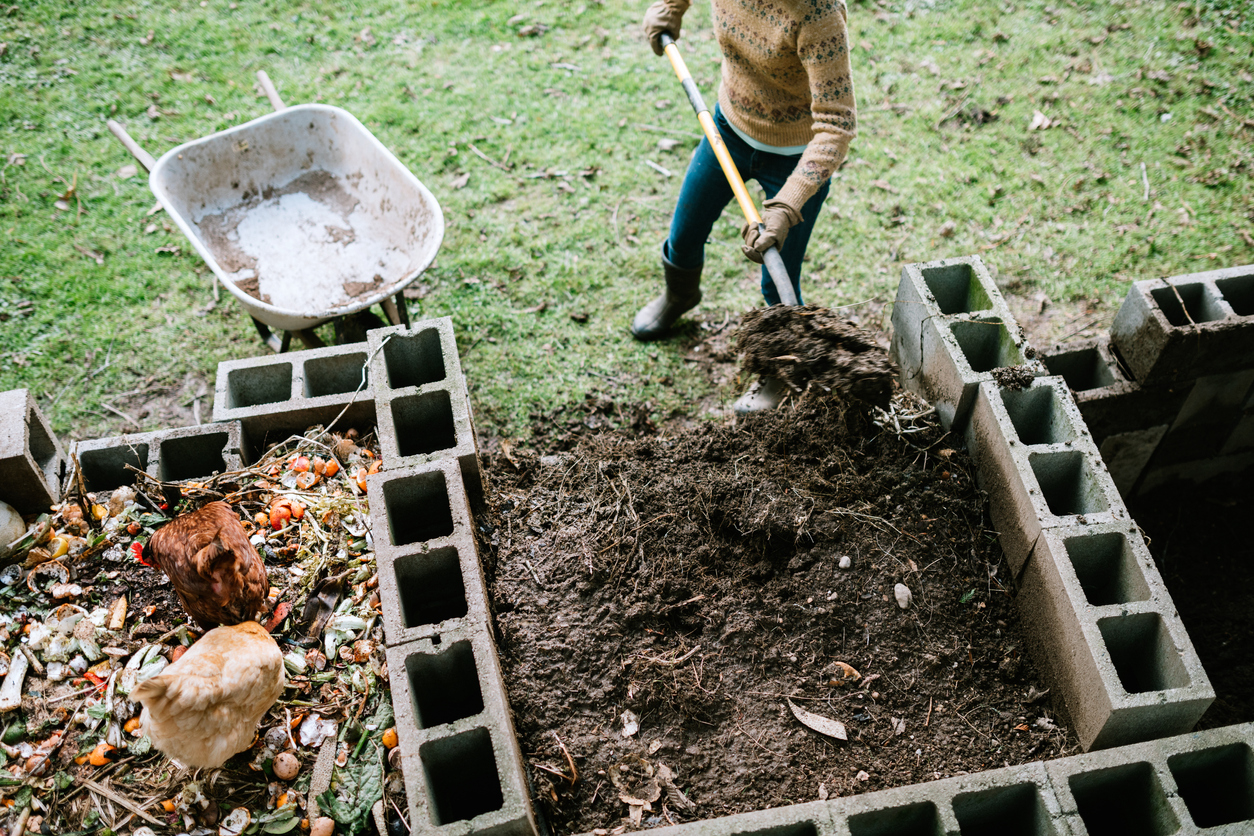
<instances>
[{"instance_id":1,"label":"green grass lawn behind the wheelbarrow and the shoveling person","mask_svg":"<svg viewBox=\"0 0 1254 836\"><path fill-rule=\"evenodd\" d=\"M219 361L265 353L104 127L159 155L265 114L265 69L290 104L354 113L435 193L448 231L410 313L454 318L483 430L525 435L589 389L688 409L711 385L675 342L626 332L698 130L640 34L646 5L0 5L0 390L29 387L63 439L97 437L135 429L112 410L189 402ZM697 0L680 45L712 102L707 14ZM903 263L979 253L1007 293L1109 322L1131 281L1254 262L1243 1L907 0L849 19L860 134L808 301L888 302ZM760 302L737 228L729 212L707 249L720 320Z\"/></svg>"}]
</instances>

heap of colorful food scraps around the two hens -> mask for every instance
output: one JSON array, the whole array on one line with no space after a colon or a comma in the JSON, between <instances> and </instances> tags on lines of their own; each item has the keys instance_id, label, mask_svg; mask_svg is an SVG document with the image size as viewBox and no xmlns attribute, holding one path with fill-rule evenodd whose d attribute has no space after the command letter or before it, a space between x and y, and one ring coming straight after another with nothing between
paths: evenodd
<instances>
[{"instance_id":1,"label":"heap of colorful food scraps around the two hens","mask_svg":"<svg viewBox=\"0 0 1254 836\"><path fill-rule=\"evenodd\" d=\"M0 573L0 674L4 692L20 694L0 714L5 832L302 832L316 805L337 832L354 833L371 828L381 798L399 816L365 499L376 450L355 430L312 430L207 481L135 471L134 486L89 494L75 479L63 505L30 520ZM240 513L266 563L265 627L285 653L288 687L251 750L188 772L139 737L128 694L199 630L166 575L137 560L167 519L216 499ZM320 755L336 766L329 788L311 790Z\"/></svg>"}]
</instances>

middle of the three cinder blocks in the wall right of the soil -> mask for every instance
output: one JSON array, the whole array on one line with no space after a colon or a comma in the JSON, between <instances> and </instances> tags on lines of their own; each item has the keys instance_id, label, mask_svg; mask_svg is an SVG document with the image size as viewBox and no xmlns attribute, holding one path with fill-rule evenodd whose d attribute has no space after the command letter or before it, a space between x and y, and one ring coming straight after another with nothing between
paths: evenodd
<instances>
[{"instance_id":1,"label":"middle of the three cinder blocks in the wall right of the soil","mask_svg":"<svg viewBox=\"0 0 1254 836\"><path fill-rule=\"evenodd\" d=\"M981 384L967 447L1014 577L1043 529L1130 519L1061 377Z\"/></svg>"}]
</instances>

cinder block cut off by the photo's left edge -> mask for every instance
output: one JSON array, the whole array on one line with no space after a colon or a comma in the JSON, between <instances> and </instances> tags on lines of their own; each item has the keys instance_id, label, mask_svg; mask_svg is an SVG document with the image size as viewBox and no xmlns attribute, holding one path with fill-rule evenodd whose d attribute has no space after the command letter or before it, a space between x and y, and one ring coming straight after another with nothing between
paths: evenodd
<instances>
[{"instance_id":1,"label":"cinder block cut off by the photo's left edge","mask_svg":"<svg viewBox=\"0 0 1254 836\"><path fill-rule=\"evenodd\" d=\"M19 514L46 511L61 501L66 466L61 442L30 390L0 392L0 500Z\"/></svg>"}]
</instances>

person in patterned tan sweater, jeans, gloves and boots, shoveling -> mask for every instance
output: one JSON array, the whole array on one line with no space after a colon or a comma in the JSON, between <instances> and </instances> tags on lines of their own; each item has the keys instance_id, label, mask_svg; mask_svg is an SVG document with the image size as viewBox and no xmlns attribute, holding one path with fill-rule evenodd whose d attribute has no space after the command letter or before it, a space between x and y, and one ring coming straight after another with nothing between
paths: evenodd
<instances>
[{"instance_id":1,"label":"person in patterned tan sweater, jeans, gloves and boots, shoveling","mask_svg":"<svg viewBox=\"0 0 1254 836\"><path fill-rule=\"evenodd\" d=\"M663 33L678 40L690 0L657 0L645 13L645 35L662 54ZM722 51L714 119L741 177L766 193L764 232L741 229L744 252L755 262L771 246L780 249L801 300L801 259L814 222L856 133L849 66L846 11L839 0L710 0L714 33ZM701 301L705 242L732 199L707 139L692 157L671 229L662 243L662 295L632 320L637 340L666 336ZM762 297L779 293L762 269ZM736 401L736 412L774 409L785 385L759 380Z\"/></svg>"}]
</instances>

